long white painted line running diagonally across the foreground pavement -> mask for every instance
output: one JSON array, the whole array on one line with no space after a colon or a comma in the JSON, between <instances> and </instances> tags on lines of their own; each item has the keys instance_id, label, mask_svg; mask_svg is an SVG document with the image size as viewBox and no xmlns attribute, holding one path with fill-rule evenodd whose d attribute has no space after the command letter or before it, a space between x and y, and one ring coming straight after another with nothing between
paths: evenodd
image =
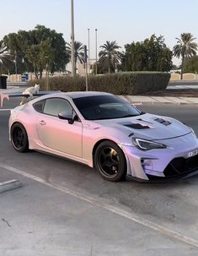
<instances>
[{"instance_id":1,"label":"long white painted line running diagonally across the foreground pavement","mask_svg":"<svg viewBox=\"0 0 198 256\"><path fill-rule=\"evenodd\" d=\"M36 177L35 175L29 174L27 172L24 172L22 170L14 168L13 166L8 166L3 163L0 163L0 167L6 169L8 171L18 173L19 175L22 175L24 177L28 177L28 178L34 180L35 182L40 182L42 184L45 184L48 187L55 188L56 190L62 191L63 193L70 194L77 199L81 199L89 204L93 204L94 206L97 206L104 210L109 210L110 212L112 212L116 215L125 217L126 219L128 219L130 221L135 221L136 223L141 224L142 226L147 226L148 228L150 228L154 231L158 231L158 232L162 233L163 235L172 237L174 239L179 240L180 242L185 242L185 243L188 243L188 244L194 246L195 248L198 248L198 240L195 240L194 238L191 238L191 237L187 237L177 231L170 230L169 228L163 227L162 225L158 225L152 221L148 221L148 220L146 220L138 215L135 215L131 212L122 210L122 209L115 207L113 205L110 205L110 204L106 204L99 199L95 199L94 197L88 197L87 195L85 195L83 193L78 193L76 191L62 187L60 185L46 182L44 179L42 179L40 177Z\"/></svg>"}]
</instances>

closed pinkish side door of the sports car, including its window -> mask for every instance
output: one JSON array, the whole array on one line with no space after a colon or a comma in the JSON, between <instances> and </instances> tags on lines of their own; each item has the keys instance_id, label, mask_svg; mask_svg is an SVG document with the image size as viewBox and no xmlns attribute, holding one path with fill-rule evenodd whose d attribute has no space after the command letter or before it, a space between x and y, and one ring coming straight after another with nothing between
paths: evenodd
<instances>
[{"instance_id":1,"label":"closed pinkish side door of the sports car, including its window","mask_svg":"<svg viewBox=\"0 0 198 256\"><path fill-rule=\"evenodd\" d=\"M58 117L60 112L76 115L71 104L66 99L56 97L46 99L42 105L36 123L40 142L51 150L82 157L82 123L78 118L70 124ZM36 110L36 105L34 107Z\"/></svg>"}]
</instances>

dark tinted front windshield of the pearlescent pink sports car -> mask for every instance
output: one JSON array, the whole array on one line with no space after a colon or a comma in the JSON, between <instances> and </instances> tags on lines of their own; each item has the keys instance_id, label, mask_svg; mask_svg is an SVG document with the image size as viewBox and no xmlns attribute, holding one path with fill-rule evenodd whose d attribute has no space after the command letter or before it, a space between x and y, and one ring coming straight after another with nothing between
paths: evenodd
<instances>
[{"instance_id":1,"label":"dark tinted front windshield of the pearlescent pink sports car","mask_svg":"<svg viewBox=\"0 0 198 256\"><path fill-rule=\"evenodd\" d=\"M142 114L134 106L114 95L94 95L73 99L73 101L87 120L135 117Z\"/></svg>"}]
</instances>

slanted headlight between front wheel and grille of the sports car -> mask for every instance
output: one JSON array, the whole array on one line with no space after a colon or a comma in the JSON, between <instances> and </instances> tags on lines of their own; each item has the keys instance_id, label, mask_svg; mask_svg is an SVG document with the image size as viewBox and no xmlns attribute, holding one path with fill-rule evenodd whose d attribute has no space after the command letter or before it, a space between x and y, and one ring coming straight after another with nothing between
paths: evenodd
<instances>
[{"instance_id":1,"label":"slanted headlight between front wheel and grille of the sports car","mask_svg":"<svg viewBox=\"0 0 198 256\"><path fill-rule=\"evenodd\" d=\"M165 144L153 142L147 139L133 138L132 141L139 150L166 149L167 147Z\"/></svg>"}]
</instances>

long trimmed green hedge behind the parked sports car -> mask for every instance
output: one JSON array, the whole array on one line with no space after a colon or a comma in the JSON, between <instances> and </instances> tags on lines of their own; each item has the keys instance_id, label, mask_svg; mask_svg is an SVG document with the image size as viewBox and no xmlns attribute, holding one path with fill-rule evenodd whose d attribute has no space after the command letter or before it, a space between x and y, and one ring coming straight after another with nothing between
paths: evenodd
<instances>
[{"instance_id":1,"label":"long trimmed green hedge behind the parked sports car","mask_svg":"<svg viewBox=\"0 0 198 256\"><path fill-rule=\"evenodd\" d=\"M164 90L169 83L170 74L160 72L123 72L88 76L88 90L110 92L115 95L140 95L146 92ZM29 86L40 84L45 90L45 79L29 81ZM70 76L49 79L50 90L85 90L85 78Z\"/></svg>"}]
</instances>

